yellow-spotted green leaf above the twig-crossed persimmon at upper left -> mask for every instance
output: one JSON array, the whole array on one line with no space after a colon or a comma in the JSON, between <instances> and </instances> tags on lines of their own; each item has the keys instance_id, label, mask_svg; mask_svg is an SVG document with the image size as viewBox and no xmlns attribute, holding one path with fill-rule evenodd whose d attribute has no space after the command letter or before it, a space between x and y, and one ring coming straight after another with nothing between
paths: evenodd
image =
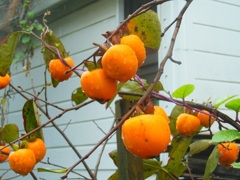
<instances>
[{"instance_id":1,"label":"yellow-spotted green leaf above the twig-crossed persimmon at upper left","mask_svg":"<svg viewBox=\"0 0 240 180\"><path fill-rule=\"evenodd\" d=\"M57 38L52 32L48 32L43 36L43 40L50 46L53 46L55 48L58 48L60 55L65 58L68 56L63 43L60 41L60 39ZM56 52L55 48L52 50ZM58 59L58 55L56 53L49 50L44 44L43 44L43 57L46 64L46 67L48 68L48 64L52 59Z\"/></svg>"}]
</instances>

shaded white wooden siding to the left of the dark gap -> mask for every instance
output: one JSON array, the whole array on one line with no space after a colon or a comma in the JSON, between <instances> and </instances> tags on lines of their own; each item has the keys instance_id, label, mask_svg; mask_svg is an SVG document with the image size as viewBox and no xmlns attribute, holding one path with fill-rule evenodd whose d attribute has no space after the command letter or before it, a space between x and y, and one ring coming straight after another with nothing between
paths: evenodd
<instances>
[{"instance_id":1,"label":"shaded white wooden siding to the left of the dark gap","mask_svg":"<svg viewBox=\"0 0 240 180\"><path fill-rule=\"evenodd\" d=\"M118 0L95 1L49 24L49 27L64 43L66 50L70 52L70 57L74 59L75 64L80 63L94 52L96 47L93 46L93 42L104 42L104 38L101 34L108 30L113 30L119 25L120 20L122 20L120 18L123 14L123 9L119 9L122 8L121 3L122 2ZM120 12L122 14L118 14ZM44 84L43 72L45 70L45 65L43 62L41 49L39 47L35 50L35 56L31 60L31 76L34 79L33 83L37 92L41 90ZM50 82L49 74L48 81ZM12 83L15 86L21 86L23 89L32 92L31 80L25 77L25 73L20 64L12 68ZM48 101L63 108L72 107L71 93L78 87L80 87L79 77L73 75L69 81L60 83L57 88L47 88L50 95ZM10 99L9 102L11 105L7 122L19 124L20 130L23 133L21 109L25 99L17 94L12 94L12 96L14 98ZM44 97L44 95L40 97ZM112 108L114 109L114 105ZM54 117L60 113L60 111L50 107L49 113L51 117ZM42 123L47 121L44 115L42 115L41 120ZM55 123L57 123L62 130L66 128L64 131L65 134L79 150L79 153L84 156L102 137L104 137L102 130L106 133L110 130L113 121L114 115L111 113L110 109L106 110L104 105L95 102L87 107L63 115L61 118L57 119ZM48 149L44 161L47 161L49 157L51 163L69 167L78 160L76 154L69 148L66 141L51 124L45 127L43 132ZM99 179L107 179L107 177L116 170L112 160L108 157L108 153L116 149L115 142L116 137L114 135L108 141L108 145L103 153L103 161L100 164L98 173ZM93 170L95 169L100 151L101 147L86 160L89 167ZM39 163L36 165L36 168L37 167L50 166ZM0 173L2 174L7 168L7 163L1 164ZM89 178L82 164L77 166L75 170ZM9 178L14 175L13 172L8 172L4 178ZM38 178L45 179L59 179L62 176L61 174L37 172L36 175ZM69 176L69 178L74 177L77 176L74 174L70 174ZM26 177L19 177L18 179L32 179L32 177L28 175Z\"/></svg>"}]
</instances>

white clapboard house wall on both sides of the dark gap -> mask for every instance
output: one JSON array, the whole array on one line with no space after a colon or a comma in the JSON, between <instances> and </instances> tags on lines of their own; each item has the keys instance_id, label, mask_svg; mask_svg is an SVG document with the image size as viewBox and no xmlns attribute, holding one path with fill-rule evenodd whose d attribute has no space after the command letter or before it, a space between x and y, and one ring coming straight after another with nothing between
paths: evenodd
<instances>
[{"instance_id":1,"label":"white clapboard house wall on both sides of the dark gap","mask_svg":"<svg viewBox=\"0 0 240 180\"><path fill-rule=\"evenodd\" d=\"M95 50L93 42L102 43L104 38L101 34L107 30L116 28L121 20L121 0L99 0L83 9L69 14L50 24L53 32L59 36L65 45L70 57L75 64L80 63ZM185 1L172 1L158 6L159 17L162 22L162 29L168 26ZM195 92L189 97L197 102L206 101L208 98L214 100L217 97L238 94L240 92L238 67L239 67L239 42L240 42L240 1L239 0L194 0L184 15L182 26L177 37L173 52L173 58L182 62L179 66L167 62L164 74L161 78L166 90L173 92L177 87L192 83L195 85ZM173 27L165 34L159 51L159 61L165 56ZM31 60L31 77L34 79L34 86L39 91L43 84L43 65L40 47L35 51ZM151 72L152 73L152 72ZM50 77L48 75L48 81ZM12 83L31 91L31 80L25 78L25 72L21 66L12 68ZM74 75L69 81L60 83L57 88L48 87L50 94L48 101L63 107L71 107L71 93L73 89L80 86L79 77ZM1 92L2 93L2 92ZM21 109L25 100L19 95L12 95L9 103L10 112L7 117L8 123L18 123L23 130ZM41 95L43 97L43 94ZM168 113L172 104L161 102ZM114 107L113 107L114 108ZM221 107L224 112L233 115ZM54 117L60 111L50 108L50 116ZM42 115L43 123L46 118ZM77 111L71 111L57 119L55 123L64 131L73 142L81 155L85 155L104 136L101 130L107 132L114 120L110 110L105 106L94 103ZM95 123L94 123L95 122ZM97 125L99 127L97 127ZM66 141L59 132L51 125L43 129L47 155L44 161L59 164L65 167L73 165L78 157L69 148ZM21 131L23 132L23 131ZM109 177L116 169L108 152L116 149L115 136L109 140L103 153L103 160L100 164L98 178L100 180ZM86 162L94 169L101 148ZM164 157L165 158L165 157ZM37 167L48 167L39 163ZM0 173L8 168L6 163L1 164ZM83 165L76 170L87 176ZM59 179L61 175L51 173L36 173L38 177L45 179ZM3 178L14 176L8 172ZM75 177L70 174L70 177ZM19 177L18 179L32 179L31 176Z\"/></svg>"}]
</instances>

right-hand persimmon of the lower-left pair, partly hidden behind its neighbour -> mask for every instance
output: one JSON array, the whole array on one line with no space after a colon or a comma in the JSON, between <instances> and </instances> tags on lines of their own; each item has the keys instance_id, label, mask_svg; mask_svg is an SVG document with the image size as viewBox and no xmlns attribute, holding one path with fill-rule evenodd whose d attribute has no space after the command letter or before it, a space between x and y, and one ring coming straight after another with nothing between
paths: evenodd
<instances>
[{"instance_id":1,"label":"right-hand persimmon of the lower-left pair, partly hidden behind its neighbour","mask_svg":"<svg viewBox=\"0 0 240 180\"><path fill-rule=\"evenodd\" d=\"M40 138L37 138L35 141L28 142L27 148L34 152L37 162L41 161L47 152L45 143Z\"/></svg>"}]
</instances>

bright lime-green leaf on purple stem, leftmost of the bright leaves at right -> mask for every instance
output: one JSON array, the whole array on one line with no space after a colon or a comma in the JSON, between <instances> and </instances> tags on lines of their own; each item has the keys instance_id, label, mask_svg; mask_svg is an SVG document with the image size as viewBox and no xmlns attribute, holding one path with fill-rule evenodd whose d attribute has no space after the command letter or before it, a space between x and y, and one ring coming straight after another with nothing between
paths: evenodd
<instances>
[{"instance_id":1,"label":"bright lime-green leaf on purple stem, leftmost of the bright leaves at right","mask_svg":"<svg viewBox=\"0 0 240 180\"><path fill-rule=\"evenodd\" d=\"M175 98L182 98L189 96L194 91L194 85L193 84L186 84L181 87L179 87L177 90L175 90L172 93L172 96Z\"/></svg>"}]
</instances>

